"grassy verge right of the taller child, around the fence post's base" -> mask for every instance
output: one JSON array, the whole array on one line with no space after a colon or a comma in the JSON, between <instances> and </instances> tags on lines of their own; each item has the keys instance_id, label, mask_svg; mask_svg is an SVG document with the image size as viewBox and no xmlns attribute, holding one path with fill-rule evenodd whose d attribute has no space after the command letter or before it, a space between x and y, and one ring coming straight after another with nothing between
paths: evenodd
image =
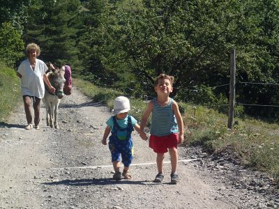
<instances>
[{"instance_id":1,"label":"grassy verge right of the taller child, around the fence post's base","mask_svg":"<svg viewBox=\"0 0 279 209\"><path fill-rule=\"evenodd\" d=\"M195 117L193 114L195 113ZM227 116L204 107L188 108L188 140L202 144L209 152L233 148L243 164L269 173L279 182L279 126L252 118L227 130Z\"/></svg>"}]
</instances>

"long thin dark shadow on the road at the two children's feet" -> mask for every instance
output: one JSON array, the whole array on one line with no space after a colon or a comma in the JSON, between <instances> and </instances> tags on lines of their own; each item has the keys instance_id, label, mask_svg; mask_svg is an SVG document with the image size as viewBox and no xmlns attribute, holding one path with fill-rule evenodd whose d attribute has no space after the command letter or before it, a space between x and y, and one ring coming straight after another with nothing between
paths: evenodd
<instances>
[{"instance_id":1,"label":"long thin dark shadow on the road at the two children's feet","mask_svg":"<svg viewBox=\"0 0 279 209\"><path fill-rule=\"evenodd\" d=\"M60 180L56 182L51 183L43 183L44 185L68 185L68 186L88 186L88 185L146 185L145 183L148 183L148 180L113 180L112 178L88 178L88 179L75 179L75 180Z\"/></svg>"}]
</instances>

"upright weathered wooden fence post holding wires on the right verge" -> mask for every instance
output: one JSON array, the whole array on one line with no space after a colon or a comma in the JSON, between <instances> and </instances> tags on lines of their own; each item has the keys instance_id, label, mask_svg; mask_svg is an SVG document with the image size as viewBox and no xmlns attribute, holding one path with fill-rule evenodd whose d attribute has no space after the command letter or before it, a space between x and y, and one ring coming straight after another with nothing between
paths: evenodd
<instances>
[{"instance_id":1,"label":"upright weathered wooden fence post holding wires on the right verge","mask_svg":"<svg viewBox=\"0 0 279 209\"><path fill-rule=\"evenodd\" d=\"M229 82L229 120L227 127L232 130L234 127L234 97L235 97L235 72L236 72L236 52L231 50L230 55L230 82Z\"/></svg>"}]
</instances>

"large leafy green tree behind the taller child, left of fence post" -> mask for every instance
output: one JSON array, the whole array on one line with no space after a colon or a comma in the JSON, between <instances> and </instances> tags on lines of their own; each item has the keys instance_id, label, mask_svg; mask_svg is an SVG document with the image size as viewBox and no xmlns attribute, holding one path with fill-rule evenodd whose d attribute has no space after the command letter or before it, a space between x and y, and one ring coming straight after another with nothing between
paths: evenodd
<instances>
[{"instance_id":1,"label":"large leafy green tree behind the taller child, left of fence post","mask_svg":"<svg viewBox=\"0 0 279 209\"><path fill-rule=\"evenodd\" d=\"M119 6L112 17L116 24L106 25L112 40L107 48L117 49L108 62L126 63L149 90L161 72L176 77L174 94L178 88L209 82L210 75L218 75L214 84L223 82L224 63L241 21L239 1L142 2Z\"/></svg>"}]
</instances>

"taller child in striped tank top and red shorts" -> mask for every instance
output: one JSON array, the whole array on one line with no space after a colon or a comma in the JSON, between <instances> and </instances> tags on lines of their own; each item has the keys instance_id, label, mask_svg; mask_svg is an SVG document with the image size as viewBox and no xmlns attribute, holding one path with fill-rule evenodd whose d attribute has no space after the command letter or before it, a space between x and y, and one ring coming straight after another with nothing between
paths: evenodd
<instances>
[{"instance_id":1,"label":"taller child in striped tank top and red shorts","mask_svg":"<svg viewBox=\"0 0 279 209\"><path fill-rule=\"evenodd\" d=\"M171 183L179 182L179 175L176 173L177 145L183 143L184 133L179 106L172 98L169 98L173 83L174 77L169 75L161 74L156 78L154 89L157 97L147 104L140 123L140 129L144 130L147 119L152 112L149 147L157 153L158 174L154 180L156 183L162 183L164 180L163 160L167 151L172 165Z\"/></svg>"}]
</instances>

